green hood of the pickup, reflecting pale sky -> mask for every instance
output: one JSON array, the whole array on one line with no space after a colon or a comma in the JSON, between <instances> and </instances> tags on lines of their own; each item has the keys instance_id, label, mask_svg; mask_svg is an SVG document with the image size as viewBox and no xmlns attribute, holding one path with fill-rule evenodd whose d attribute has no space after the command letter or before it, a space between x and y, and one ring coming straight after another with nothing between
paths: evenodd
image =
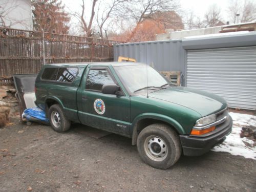
<instances>
[{"instance_id":1,"label":"green hood of the pickup, reflecting pale sky","mask_svg":"<svg viewBox=\"0 0 256 192\"><path fill-rule=\"evenodd\" d=\"M218 95L185 87L169 87L149 93L148 97L185 106L202 117L227 107L225 99Z\"/></svg>"}]
</instances>

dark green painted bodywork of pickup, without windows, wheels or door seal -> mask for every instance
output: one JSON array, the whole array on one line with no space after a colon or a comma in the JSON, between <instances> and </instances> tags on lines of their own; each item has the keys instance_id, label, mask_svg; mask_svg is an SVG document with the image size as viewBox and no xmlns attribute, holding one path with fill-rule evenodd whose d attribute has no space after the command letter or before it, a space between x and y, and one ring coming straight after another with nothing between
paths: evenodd
<instances>
[{"instance_id":1,"label":"dark green painted bodywork of pickup, without windows, wheels or door seal","mask_svg":"<svg viewBox=\"0 0 256 192\"><path fill-rule=\"evenodd\" d=\"M189 134L196 120L227 106L226 101L217 95L184 87L169 87L150 92L148 97L145 92L130 96L113 66L133 64L104 62L44 66L78 67L79 72L72 83L59 83L42 81L40 76L43 68L35 83L36 103L40 108L46 109L47 101L55 100L62 106L68 119L127 137L132 137L136 123L142 119L161 120L175 127L178 133ZM108 68L115 82L121 87L123 96L86 90L86 77L92 67ZM105 113L102 115L94 110L96 99L105 103Z\"/></svg>"}]
</instances>

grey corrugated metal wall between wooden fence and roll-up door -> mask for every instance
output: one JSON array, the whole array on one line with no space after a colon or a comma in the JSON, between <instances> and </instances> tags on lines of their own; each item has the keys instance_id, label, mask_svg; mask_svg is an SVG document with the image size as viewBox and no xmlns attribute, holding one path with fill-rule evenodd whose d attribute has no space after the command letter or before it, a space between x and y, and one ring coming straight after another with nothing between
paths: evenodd
<instances>
[{"instance_id":1,"label":"grey corrugated metal wall between wooden fence and roll-up door","mask_svg":"<svg viewBox=\"0 0 256 192\"><path fill-rule=\"evenodd\" d=\"M117 44L114 45L114 60L117 61L119 56L135 58L138 62L153 65L158 71L185 73L186 51L182 48L181 40Z\"/></svg>"}]
</instances>

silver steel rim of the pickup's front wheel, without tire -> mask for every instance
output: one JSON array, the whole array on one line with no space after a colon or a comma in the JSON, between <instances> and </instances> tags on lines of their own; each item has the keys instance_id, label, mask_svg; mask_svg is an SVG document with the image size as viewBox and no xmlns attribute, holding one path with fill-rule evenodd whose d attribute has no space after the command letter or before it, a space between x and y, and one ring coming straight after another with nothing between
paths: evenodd
<instances>
[{"instance_id":1,"label":"silver steel rim of the pickup's front wheel, without tire","mask_svg":"<svg viewBox=\"0 0 256 192\"><path fill-rule=\"evenodd\" d=\"M165 141L158 136L148 136L144 142L144 151L151 160L163 161L168 154Z\"/></svg>"}]
</instances>

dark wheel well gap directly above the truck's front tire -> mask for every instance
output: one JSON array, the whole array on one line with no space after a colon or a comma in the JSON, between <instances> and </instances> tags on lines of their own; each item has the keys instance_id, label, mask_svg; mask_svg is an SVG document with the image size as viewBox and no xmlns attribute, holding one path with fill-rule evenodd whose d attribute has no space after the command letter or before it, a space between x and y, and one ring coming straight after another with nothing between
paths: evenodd
<instances>
[{"instance_id":1,"label":"dark wheel well gap directly above the truck's front tire","mask_svg":"<svg viewBox=\"0 0 256 192\"><path fill-rule=\"evenodd\" d=\"M155 124L155 123L162 123L162 124L166 124L168 125L169 127L172 127L172 129L177 132L177 130L172 126L170 125L169 123L166 123L165 121L161 121L161 120L158 120L158 119L141 119L139 120L134 129L133 129L133 139L132 139L132 145L136 145L137 143L137 138L138 138L138 135L139 133L145 128L147 127L148 125L151 125L151 124ZM177 132L177 134L179 135L179 133Z\"/></svg>"}]
</instances>

